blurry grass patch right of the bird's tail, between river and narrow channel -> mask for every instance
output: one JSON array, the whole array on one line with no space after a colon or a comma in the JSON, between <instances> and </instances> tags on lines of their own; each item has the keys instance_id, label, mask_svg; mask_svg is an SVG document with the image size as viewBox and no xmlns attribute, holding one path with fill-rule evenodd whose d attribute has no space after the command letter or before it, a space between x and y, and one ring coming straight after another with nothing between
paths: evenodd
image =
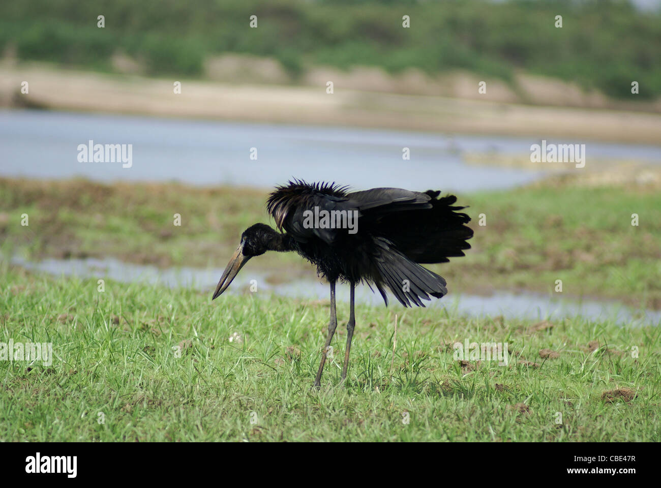
<instances>
[{"instance_id":1,"label":"blurry grass patch right of the bird's tail, between river and narrow channel","mask_svg":"<svg viewBox=\"0 0 661 488\"><path fill-rule=\"evenodd\" d=\"M457 289L480 282L553 292L562 280L564 294L661 308L658 188L541 184L461 200L471 206L473 249L437 268ZM631 225L634 213L637 226Z\"/></svg>"}]
</instances>

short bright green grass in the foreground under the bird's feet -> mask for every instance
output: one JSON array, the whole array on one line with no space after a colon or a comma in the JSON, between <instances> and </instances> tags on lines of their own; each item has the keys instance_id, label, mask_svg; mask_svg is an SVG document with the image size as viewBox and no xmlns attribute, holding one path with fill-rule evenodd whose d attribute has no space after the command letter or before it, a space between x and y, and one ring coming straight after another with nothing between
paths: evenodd
<instances>
[{"instance_id":1,"label":"short bright green grass in the foreground under the bird's feet","mask_svg":"<svg viewBox=\"0 0 661 488\"><path fill-rule=\"evenodd\" d=\"M0 262L0 342L51 342L56 354L48 367L0 361L0 440L661 438L658 328L581 318L533 327L399 309L391 368L394 310L360 306L342 385L340 304L336 359L315 391L323 302L97 286ZM510 365L461 366L452 344L464 339L508 343ZM540 358L544 348L559 357Z\"/></svg>"}]
</instances>

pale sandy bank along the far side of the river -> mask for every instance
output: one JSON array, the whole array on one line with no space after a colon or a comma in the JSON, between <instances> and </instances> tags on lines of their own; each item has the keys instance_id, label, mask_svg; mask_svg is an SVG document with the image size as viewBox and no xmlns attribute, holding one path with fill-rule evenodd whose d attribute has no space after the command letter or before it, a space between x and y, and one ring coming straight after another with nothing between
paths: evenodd
<instances>
[{"instance_id":1,"label":"pale sandy bank along the far side of the river","mask_svg":"<svg viewBox=\"0 0 661 488\"><path fill-rule=\"evenodd\" d=\"M319 87L236 85L0 65L0 104L85 110L457 132L661 143L661 114ZM28 93L21 83L28 82ZM175 82L181 93L175 93Z\"/></svg>"}]
</instances>

